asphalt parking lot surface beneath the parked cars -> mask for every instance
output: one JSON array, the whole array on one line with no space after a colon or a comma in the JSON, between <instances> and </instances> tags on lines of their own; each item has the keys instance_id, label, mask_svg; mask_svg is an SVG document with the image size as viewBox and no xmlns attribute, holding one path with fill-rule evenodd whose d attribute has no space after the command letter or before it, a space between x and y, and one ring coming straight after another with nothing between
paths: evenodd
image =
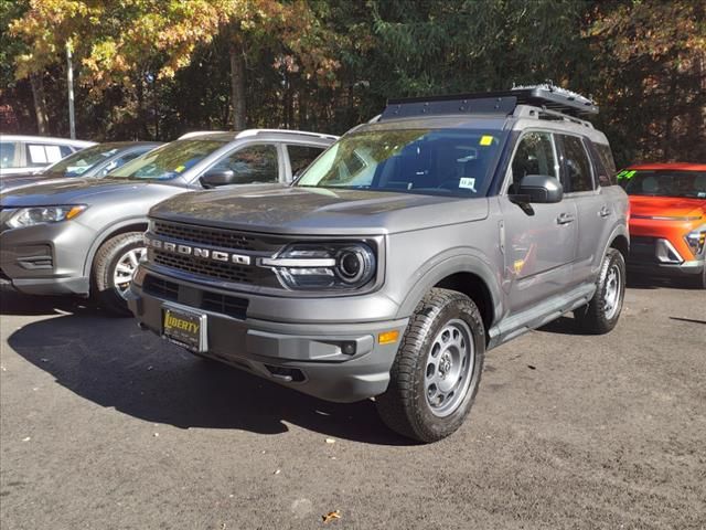
<instances>
[{"instance_id":1,"label":"asphalt parking lot surface beneath the parked cars","mask_svg":"<svg viewBox=\"0 0 706 530\"><path fill-rule=\"evenodd\" d=\"M704 292L644 283L609 336L490 352L428 446L81 300L3 293L1 331L3 530L706 528Z\"/></svg>"}]
</instances>

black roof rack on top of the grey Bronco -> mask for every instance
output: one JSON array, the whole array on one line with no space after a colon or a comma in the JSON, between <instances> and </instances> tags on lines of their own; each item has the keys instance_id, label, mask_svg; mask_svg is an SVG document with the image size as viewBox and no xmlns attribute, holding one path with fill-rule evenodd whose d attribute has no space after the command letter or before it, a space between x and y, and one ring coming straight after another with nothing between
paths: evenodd
<instances>
[{"instance_id":1,"label":"black roof rack on top of the grey Bronco","mask_svg":"<svg viewBox=\"0 0 706 530\"><path fill-rule=\"evenodd\" d=\"M552 85L518 86L503 92L388 99L381 120L452 114L511 115L517 105L534 105L569 116L598 114L590 99Z\"/></svg>"}]
</instances>

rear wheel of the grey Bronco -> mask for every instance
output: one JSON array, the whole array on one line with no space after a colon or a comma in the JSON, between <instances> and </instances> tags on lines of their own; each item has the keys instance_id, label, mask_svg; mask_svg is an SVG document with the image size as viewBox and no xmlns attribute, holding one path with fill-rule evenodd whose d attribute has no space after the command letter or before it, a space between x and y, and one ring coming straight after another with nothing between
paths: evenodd
<instances>
[{"instance_id":1,"label":"rear wheel of the grey Bronco","mask_svg":"<svg viewBox=\"0 0 706 530\"><path fill-rule=\"evenodd\" d=\"M616 248L609 248L600 267L596 293L587 306L574 311L582 330L607 333L616 327L625 296L625 259Z\"/></svg>"}]
</instances>

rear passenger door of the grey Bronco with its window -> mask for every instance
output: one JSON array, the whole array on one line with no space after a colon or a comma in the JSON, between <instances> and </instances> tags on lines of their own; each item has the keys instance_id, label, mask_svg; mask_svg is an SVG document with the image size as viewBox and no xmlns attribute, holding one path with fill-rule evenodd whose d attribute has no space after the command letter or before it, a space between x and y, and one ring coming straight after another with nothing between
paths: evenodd
<instances>
[{"instance_id":1,"label":"rear passenger door of the grey Bronco with its window","mask_svg":"<svg viewBox=\"0 0 706 530\"><path fill-rule=\"evenodd\" d=\"M590 145L580 136L556 135L560 149L561 170L565 181L565 200L576 204L577 250L574 264L574 285L592 279L600 266L603 245L610 229L611 209L608 199L598 186L597 167L589 156Z\"/></svg>"}]
</instances>

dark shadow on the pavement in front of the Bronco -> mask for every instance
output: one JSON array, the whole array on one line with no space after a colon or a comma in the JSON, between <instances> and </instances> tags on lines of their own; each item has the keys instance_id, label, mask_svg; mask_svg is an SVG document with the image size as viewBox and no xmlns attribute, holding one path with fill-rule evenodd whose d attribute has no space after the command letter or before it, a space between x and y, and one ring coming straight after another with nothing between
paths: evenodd
<instances>
[{"instance_id":1,"label":"dark shadow on the pavement in front of the Bronco","mask_svg":"<svg viewBox=\"0 0 706 530\"><path fill-rule=\"evenodd\" d=\"M20 298L25 297L4 300L3 314L34 314L30 311L36 300ZM51 315L53 307L44 299L36 314ZM382 423L372 401L320 401L197 359L139 330L133 319L99 317L78 309L74 315L25 325L8 342L60 384L101 406L181 428L279 434L288 431L287 422L368 444L410 444Z\"/></svg>"}]
</instances>

